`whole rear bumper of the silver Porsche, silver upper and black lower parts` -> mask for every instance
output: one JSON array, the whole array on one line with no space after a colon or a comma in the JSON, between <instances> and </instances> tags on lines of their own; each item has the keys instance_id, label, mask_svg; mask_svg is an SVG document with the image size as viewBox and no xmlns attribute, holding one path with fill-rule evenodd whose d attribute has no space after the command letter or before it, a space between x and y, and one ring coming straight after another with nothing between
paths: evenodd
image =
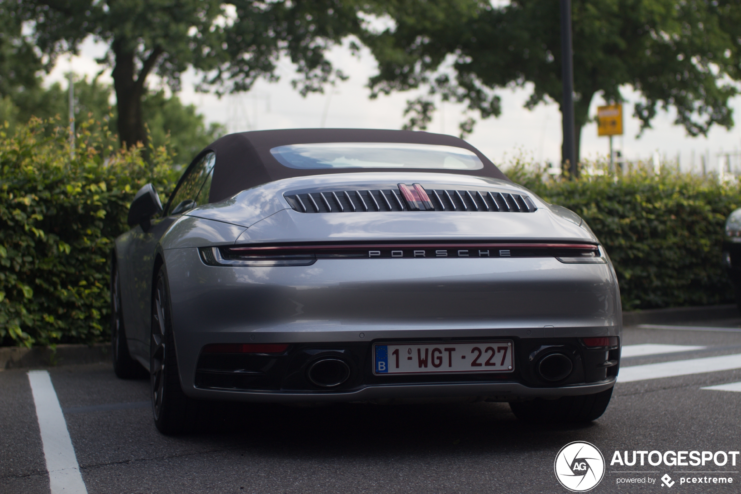
<instances>
[{"instance_id":1,"label":"whole rear bumper of the silver Porsche, silver upper and black lower parts","mask_svg":"<svg viewBox=\"0 0 741 494\"><path fill-rule=\"evenodd\" d=\"M619 292L608 264L562 264L555 258L339 259L307 267L210 267L195 248L165 251L165 264L181 384L193 398L511 401L598 393L617 375L619 351L586 351L579 340L622 336ZM405 380L373 376L373 342L474 338L514 341L515 372ZM235 377L231 382L199 377L206 344L250 343L287 343L291 350L273 364L207 366L216 374L227 371ZM574 352L581 375L539 382L534 365L559 345ZM312 390L305 370L319 356L345 358L354 381L342 390ZM606 361L613 362L609 371L600 367ZM265 378L250 381L258 373Z\"/></svg>"}]
</instances>

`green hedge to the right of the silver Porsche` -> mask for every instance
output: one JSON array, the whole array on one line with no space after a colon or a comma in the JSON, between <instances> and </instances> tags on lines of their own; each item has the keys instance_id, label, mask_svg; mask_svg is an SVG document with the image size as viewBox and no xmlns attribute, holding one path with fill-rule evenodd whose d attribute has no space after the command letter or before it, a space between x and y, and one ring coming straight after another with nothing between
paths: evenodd
<instances>
[{"instance_id":1,"label":"green hedge to the right of the silver Porsche","mask_svg":"<svg viewBox=\"0 0 741 494\"><path fill-rule=\"evenodd\" d=\"M587 221L617 272L623 310L734 301L721 263L725 218L741 207L735 183L637 167L625 176L542 179L522 162L513 180ZM602 167L605 170L605 167Z\"/></svg>"}]
</instances>

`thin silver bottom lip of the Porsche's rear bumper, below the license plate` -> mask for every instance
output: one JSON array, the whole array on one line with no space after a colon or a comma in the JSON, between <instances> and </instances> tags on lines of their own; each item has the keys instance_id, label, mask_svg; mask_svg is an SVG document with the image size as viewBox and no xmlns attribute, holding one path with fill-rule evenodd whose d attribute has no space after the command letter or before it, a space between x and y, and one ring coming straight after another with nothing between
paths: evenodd
<instances>
[{"instance_id":1,"label":"thin silver bottom lip of the Porsche's rear bumper, below the license plate","mask_svg":"<svg viewBox=\"0 0 741 494\"><path fill-rule=\"evenodd\" d=\"M203 400L247 401L254 403L347 403L352 401L385 400L394 398L454 398L479 397L482 401L517 401L523 398L560 398L562 396L591 395L610 389L616 378L589 384L562 387L528 387L517 382L445 383L445 384L379 384L360 390L336 393L288 393L234 390L199 390L187 394Z\"/></svg>"}]
</instances>

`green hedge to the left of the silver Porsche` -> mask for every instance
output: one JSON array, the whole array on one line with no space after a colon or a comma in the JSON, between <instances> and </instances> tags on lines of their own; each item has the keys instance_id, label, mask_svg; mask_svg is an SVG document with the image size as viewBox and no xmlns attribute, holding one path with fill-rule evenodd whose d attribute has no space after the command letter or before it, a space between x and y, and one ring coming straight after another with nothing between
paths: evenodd
<instances>
[{"instance_id":1,"label":"green hedge to the left of the silver Porsche","mask_svg":"<svg viewBox=\"0 0 741 494\"><path fill-rule=\"evenodd\" d=\"M7 124L5 129L7 130ZM133 195L152 181L168 193L177 173L164 148L113 151L84 122L69 131L34 119L0 132L0 344L92 343L110 335L113 238L127 230Z\"/></svg>"}]
</instances>

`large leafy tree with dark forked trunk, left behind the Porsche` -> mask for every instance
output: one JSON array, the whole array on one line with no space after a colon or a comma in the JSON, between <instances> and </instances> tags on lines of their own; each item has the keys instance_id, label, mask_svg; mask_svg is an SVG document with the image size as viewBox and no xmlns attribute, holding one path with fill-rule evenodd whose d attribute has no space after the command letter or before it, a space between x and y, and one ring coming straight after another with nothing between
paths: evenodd
<instances>
[{"instance_id":1,"label":"large leafy tree with dark forked trunk, left behind the Porsche","mask_svg":"<svg viewBox=\"0 0 741 494\"><path fill-rule=\"evenodd\" d=\"M296 64L295 86L306 94L344 75L325 51L360 30L353 0L23 0L19 18L50 59L93 36L108 45L99 63L113 69L122 143L146 140L142 100L147 78L173 92L189 67L202 73L200 90L249 90L259 78L277 79L276 62Z\"/></svg>"}]
</instances>

